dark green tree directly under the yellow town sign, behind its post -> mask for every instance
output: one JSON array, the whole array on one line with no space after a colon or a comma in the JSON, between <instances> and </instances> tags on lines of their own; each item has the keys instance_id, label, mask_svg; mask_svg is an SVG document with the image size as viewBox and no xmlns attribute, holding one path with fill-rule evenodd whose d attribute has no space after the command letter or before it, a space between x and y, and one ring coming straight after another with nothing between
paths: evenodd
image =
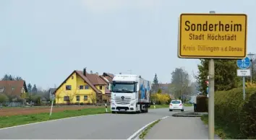
<instances>
[{"instance_id":1,"label":"dark green tree directly under the yellow town sign, behind its post","mask_svg":"<svg viewBox=\"0 0 256 140\"><path fill-rule=\"evenodd\" d=\"M199 74L197 76L197 82L200 85L200 92L206 95L207 85L205 83L208 76L208 59L201 59L201 63L198 65ZM235 87L239 87L241 79L236 76L236 60L218 59L215 60L215 91L229 90Z\"/></svg>"}]
</instances>

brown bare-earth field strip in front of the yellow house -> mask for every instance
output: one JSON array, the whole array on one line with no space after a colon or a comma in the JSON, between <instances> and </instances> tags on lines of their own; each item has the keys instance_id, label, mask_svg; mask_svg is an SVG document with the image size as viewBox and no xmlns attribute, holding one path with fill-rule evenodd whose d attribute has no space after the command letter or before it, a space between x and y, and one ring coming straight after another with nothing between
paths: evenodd
<instances>
[{"instance_id":1,"label":"brown bare-earth field strip in front of the yellow house","mask_svg":"<svg viewBox=\"0 0 256 140\"><path fill-rule=\"evenodd\" d=\"M103 108L99 106L54 106L53 113L64 110L80 110L84 108ZM50 113L51 107L26 107L26 108L0 108L0 116L6 115L28 115L37 113Z\"/></svg>"}]
</instances>

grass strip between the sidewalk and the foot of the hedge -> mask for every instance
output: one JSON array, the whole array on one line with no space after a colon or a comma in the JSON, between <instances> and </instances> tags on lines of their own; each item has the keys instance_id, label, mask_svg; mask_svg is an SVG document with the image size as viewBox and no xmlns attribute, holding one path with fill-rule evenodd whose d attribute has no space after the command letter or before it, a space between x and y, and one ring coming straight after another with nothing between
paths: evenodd
<instances>
[{"instance_id":1,"label":"grass strip between the sidewalk and the foot of the hedge","mask_svg":"<svg viewBox=\"0 0 256 140\"><path fill-rule=\"evenodd\" d=\"M208 115L202 115L201 120L208 125ZM234 136L237 136L237 133L232 128L228 128L218 121L215 121L215 134L220 136L221 139L234 139Z\"/></svg>"}]
</instances>

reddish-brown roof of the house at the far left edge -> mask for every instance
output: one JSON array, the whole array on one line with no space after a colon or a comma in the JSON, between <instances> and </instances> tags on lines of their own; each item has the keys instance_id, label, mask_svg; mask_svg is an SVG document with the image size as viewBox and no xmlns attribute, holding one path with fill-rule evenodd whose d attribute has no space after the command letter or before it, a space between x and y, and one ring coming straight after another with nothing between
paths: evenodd
<instances>
[{"instance_id":1,"label":"reddish-brown roof of the house at the far left edge","mask_svg":"<svg viewBox=\"0 0 256 140\"><path fill-rule=\"evenodd\" d=\"M23 87L25 92L27 92L27 86L24 80L0 81L0 93L5 93L7 95L20 96Z\"/></svg>"}]
</instances>

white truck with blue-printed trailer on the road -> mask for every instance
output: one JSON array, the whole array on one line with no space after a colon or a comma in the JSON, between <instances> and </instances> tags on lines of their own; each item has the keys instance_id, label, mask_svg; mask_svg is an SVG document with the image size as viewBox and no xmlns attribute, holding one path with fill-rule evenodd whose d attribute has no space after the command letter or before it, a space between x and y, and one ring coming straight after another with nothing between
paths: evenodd
<instances>
[{"instance_id":1,"label":"white truck with blue-printed trailer on the road","mask_svg":"<svg viewBox=\"0 0 256 140\"><path fill-rule=\"evenodd\" d=\"M148 113L150 81L134 74L116 74L110 87L112 113Z\"/></svg>"}]
</instances>

